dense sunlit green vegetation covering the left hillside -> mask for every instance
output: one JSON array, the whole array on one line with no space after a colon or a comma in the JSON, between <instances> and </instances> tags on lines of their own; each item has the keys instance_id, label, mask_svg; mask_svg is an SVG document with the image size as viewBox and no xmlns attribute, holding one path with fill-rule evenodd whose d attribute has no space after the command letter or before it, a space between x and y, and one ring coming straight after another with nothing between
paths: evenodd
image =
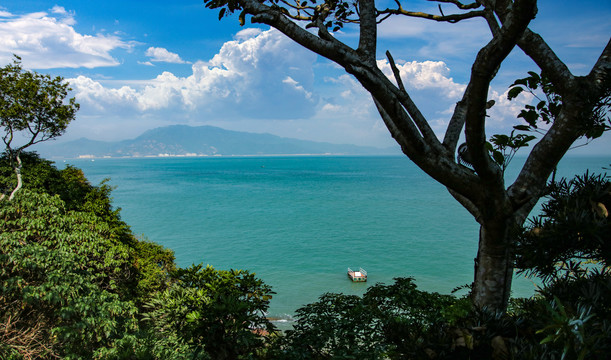
<instances>
[{"instance_id":1,"label":"dense sunlit green vegetation covering the left hillside","mask_svg":"<svg viewBox=\"0 0 611 360\"><path fill-rule=\"evenodd\" d=\"M22 159L24 188L0 201L0 358L236 359L263 347L272 291L254 274L179 269L131 233L106 183ZM4 156L0 187L14 181Z\"/></svg>"}]
</instances>

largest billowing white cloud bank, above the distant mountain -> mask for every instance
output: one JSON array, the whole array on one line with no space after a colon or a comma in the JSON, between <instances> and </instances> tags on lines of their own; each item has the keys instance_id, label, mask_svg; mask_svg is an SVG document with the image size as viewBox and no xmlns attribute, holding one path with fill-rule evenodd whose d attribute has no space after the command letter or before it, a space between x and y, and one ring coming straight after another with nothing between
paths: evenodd
<instances>
[{"instance_id":1,"label":"largest billowing white cloud bank, above the distant mountain","mask_svg":"<svg viewBox=\"0 0 611 360\"><path fill-rule=\"evenodd\" d=\"M167 52L151 49L147 55L158 58ZM84 112L291 119L314 112L315 60L275 30L249 30L226 42L209 61L195 62L186 77L165 71L154 79L119 86L86 76L69 81Z\"/></svg>"}]
</instances>

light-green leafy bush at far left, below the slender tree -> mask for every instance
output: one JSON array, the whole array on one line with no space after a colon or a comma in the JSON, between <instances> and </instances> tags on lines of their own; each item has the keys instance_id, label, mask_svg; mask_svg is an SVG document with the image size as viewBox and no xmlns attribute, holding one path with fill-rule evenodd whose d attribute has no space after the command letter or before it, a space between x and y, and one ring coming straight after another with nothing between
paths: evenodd
<instances>
[{"instance_id":1,"label":"light-green leafy bush at far left, below the slender tree","mask_svg":"<svg viewBox=\"0 0 611 360\"><path fill-rule=\"evenodd\" d=\"M135 328L137 309L121 299L128 252L104 224L27 190L0 202L0 219L0 318L24 336L38 326L39 355L93 358Z\"/></svg>"}]
</instances>

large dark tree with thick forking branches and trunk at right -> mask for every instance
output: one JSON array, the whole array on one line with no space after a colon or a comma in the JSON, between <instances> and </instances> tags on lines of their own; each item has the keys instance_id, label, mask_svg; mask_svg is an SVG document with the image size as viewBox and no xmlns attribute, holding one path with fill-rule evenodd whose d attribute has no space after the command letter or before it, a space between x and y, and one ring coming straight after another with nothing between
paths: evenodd
<instances>
[{"instance_id":1,"label":"large dark tree with thick forking branches and trunk at right","mask_svg":"<svg viewBox=\"0 0 611 360\"><path fill-rule=\"evenodd\" d=\"M403 153L446 186L480 224L473 301L478 307L503 311L511 290L514 229L523 224L571 145L586 134L588 124L601 120L597 116L606 114L611 92L611 42L588 75L575 76L546 41L529 28L537 13L536 0L478 0L469 4L458 0L432 1L438 3L439 15L409 11L399 0L394 8L385 9L377 8L373 0L204 0L204 3L208 8L220 8L219 18L240 12L241 24L247 15L252 15L251 22L278 29L334 61L360 82L371 94ZM456 12L446 14L441 11L442 5L452 6ZM490 41L477 53L469 83L441 141L405 90L390 52L386 55L395 83L376 64L377 25L393 16L448 23L480 19L491 31ZM332 35L344 25L358 26L356 48ZM515 47L545 74L562 106L532 148L518 178L507 186L502 166L490 156L485 119L490 106L487 98L490 83ZM473 169L461 166L455 158L463 131Z\"/></svg>"}]
</instances>

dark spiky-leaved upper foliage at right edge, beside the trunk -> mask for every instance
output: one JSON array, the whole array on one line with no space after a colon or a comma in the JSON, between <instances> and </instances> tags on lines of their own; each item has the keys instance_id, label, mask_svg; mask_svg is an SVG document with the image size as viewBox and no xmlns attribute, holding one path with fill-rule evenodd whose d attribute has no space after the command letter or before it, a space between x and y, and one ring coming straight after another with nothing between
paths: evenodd
<instances>
[{"instance_id":1,"label":"dark spiky-leaved upper foliage at right edge, beside the trunk","mask_svg":"<svg viewBox=\"0 0 611 360\"><path fill-rule=\"evenodd\" d=\"M519 238L517 267L551 281L587 271L588 263L609 270L611 182L585 173L549 185L541 215L530 220ZM592 266L590 266L592 268Z\"/></svg>"}]
</instances>

